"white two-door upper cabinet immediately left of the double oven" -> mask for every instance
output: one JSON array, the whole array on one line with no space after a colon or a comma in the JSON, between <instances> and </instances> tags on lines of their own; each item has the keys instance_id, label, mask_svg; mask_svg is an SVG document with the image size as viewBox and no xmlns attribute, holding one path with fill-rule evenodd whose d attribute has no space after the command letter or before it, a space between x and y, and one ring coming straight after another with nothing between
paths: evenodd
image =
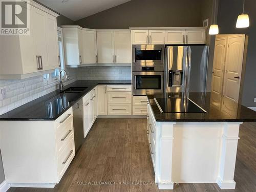
<instances>
[{"instance_id":1,"label":"white two-door upper cabinet immediately left of the double oven","mask_svg":"<svg viewBox=\"0 0 256 192\"><path fill-rule=\"evenodd\" d=\"M99 63L131 63L130 31L97 31Z\"/></svg>"}]
</instances>

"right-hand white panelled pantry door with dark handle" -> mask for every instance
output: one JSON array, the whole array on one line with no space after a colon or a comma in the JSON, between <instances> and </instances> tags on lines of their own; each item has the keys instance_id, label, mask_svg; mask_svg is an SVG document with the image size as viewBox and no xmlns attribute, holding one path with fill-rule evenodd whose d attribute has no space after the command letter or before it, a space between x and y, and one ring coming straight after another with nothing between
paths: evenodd
<instances>
[{"instance_id":1,"label":"right-hand white panelled pantry door with dark handle","mask_svg":"<svg viewBox=\"0 0 256 192\"><path fill-rule=\"evenodd\" d=\"M244 56L245 35L228 37L226 70L224 77L224 102L238 102Z\"/></svg>"}]
</instances>

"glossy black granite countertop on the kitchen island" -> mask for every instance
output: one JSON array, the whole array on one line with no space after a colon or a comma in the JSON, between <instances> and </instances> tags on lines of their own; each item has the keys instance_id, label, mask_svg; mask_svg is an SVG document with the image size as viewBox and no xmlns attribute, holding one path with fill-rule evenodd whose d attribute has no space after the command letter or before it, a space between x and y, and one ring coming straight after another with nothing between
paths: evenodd
<instances>
[{"instance_id":1,"label":"glossy black granite countertop on the kitchen island","mask_svg":"<svg viewBox=\"0 0 256 192\"><path fill-rule=\"evenodd\" d=\"M147 95L153 109L156 121L229 121L229 122L245 122L256 121L256 112L246 108L241 104L226 100L226 102L217 103L212 99L211 93L166 93L166 94L153 94ZM184 99L189 98L189 99ZM159 110L156 98L163 113ZM175 102L167 102L166 98L179 98ZM187 100L192 101L199 106L199 109L203 109L205 112L195 112L195 105L186 109L186 112L181 112L183 105L186 106ZM181 104L182 102L182 104ZM189 104L191 106L191 102ZM194 107L194 109L193 109ZM176 111L172 113L166 113L167 111ZM199 110L200 111L200 110Z\"/></svg>"}]
</instances>

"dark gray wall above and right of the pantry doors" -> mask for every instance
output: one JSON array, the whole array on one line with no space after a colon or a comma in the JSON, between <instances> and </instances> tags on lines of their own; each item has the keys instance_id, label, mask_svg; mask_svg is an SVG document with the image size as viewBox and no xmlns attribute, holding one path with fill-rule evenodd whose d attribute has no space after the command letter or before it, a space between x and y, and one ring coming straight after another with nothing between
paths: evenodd
<instances>
[{"instance_id":1,"label":"dark gray wall above and right of the pantry doors","mask_svg":"<svg viewBox=\"0 0 256 192\"><path fill-rule=\"evenodd\" d=\"M249 14L250 27L244 29L236 28L236 21L243 9L243 0L225 0L220 1L218 11L218 25L220 34L247 34L248 50L246 59L246 70L243 88L242 104L245 106L256 106L253 101L256 97L256 1L245 1L245 12Z\"/></svg>"}]
</instances>

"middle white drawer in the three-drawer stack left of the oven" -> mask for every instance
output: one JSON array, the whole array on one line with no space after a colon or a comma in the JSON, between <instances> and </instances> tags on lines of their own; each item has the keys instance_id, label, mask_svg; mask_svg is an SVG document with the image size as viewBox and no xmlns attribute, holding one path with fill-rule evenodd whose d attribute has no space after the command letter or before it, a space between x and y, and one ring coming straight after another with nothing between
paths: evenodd
<instances>
[{"instance_id":1,"label":"middle white drawer in the three-drawer stack left of the oven","mask_svg":"<svg viewBox=\"0 0 256 192\"><path fill-rule=\"evenodd\" d=\"M131 92L108 92L108 103L131 103Z\"/></svg>"}]
</instances>

